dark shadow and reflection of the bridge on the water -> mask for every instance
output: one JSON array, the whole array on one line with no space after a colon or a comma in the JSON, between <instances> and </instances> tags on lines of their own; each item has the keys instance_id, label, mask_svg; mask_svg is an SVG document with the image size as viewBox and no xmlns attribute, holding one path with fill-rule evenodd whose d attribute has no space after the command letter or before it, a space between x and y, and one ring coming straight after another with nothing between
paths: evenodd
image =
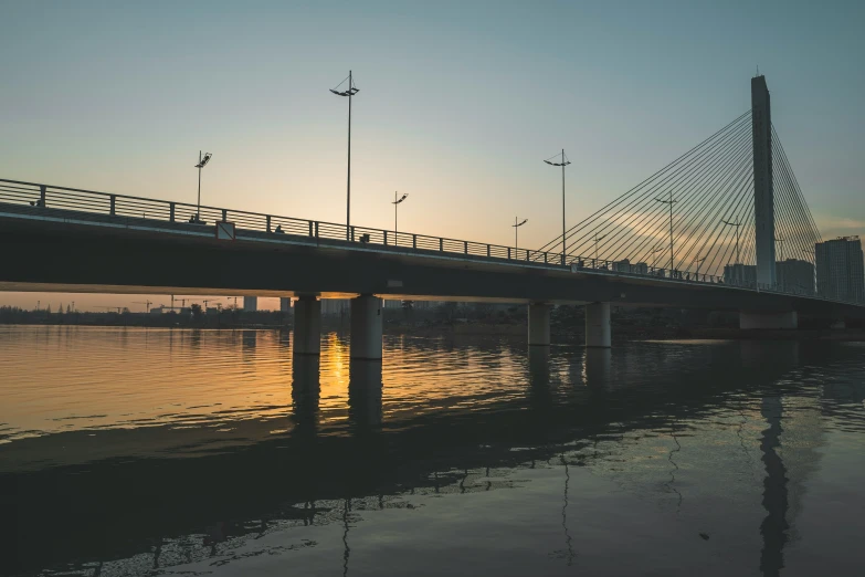
<instances>
[{"instance_id":1,"label":"dark shadow and reflection of the bridge on the water","mask_svg":"<svg viewBox=\"0 0 865 577\"><path fill-rule=\"evenodd\" d=\"M198 338L192 337L192 346ZM259 338L255 332L244 333L242 349L252 352ZM285 335L278 343L286 350L291 347ZM3 556L0 573L63 568L99 575L120 563L128 574L147 575L208 558L236 562L240 557L230 549L238 543L313 526L341 527L342 548L334 555L340 556L347 573L352 532L361 531L365 512L412 508L411 499L418 495L520 491L520 483L508 475L537 468L561 468L562 546L550 555L572 565L580 549L568 522L569 512L576 511L569 490L574 472L586 468L627 490L639 481L629 466L647 466L642 457L632 454L635 448L663 439L665 452L652 466L662 468L664 479L646 490L646 499L682 515L694 499L679 479L688 474L681 469L683 448L696 442L695 423L732 413L737 419L741 416L738 424L734 420L729 426L738 430L741 442L730 451L753 453L762 463L753 472L756 480L762 480L757 490L762 494L763 521L753 526L761 542L759 569L762 575L779 575L784 547L795 538L792 526L801 507L797 500L801 501L808 474L819 468L814 447L822 442L816 419L806 430L813 442L806 459L797 463L800 470L785 465L784 458L793 449L781 451L782 433L793 413L788 415L784 398L815 403L821 413L820 394L805 390L800 381L806 379L800 377L822 370L830 360L862 360L865 353L793 342L583 350L527 349L499 340L454 344L404 338L388 343L388 348L429 357L429 367L424 361L416 366L414 378L420 380L425 371L435 370L436 355L464 356L467 365L472 348L485 350L489 354L483 357L484 370L500 369L505 359L515 359L520 370L508 378L520 382L523 392L500 401L495 400L495 390L476 394L484 398L481 408L472 402L440 408L434 397L418 399L414 407L394 405L389 401L390 381L382 363L350 361L347 406L336 417L326 416L323 360L295 358L289 422L282 434L189 458L118 451L86 462L4 468L0 473L7 520L2 537L11 554ZM791 374L798 377L790 378ZM790 422L791 428L799 427ZM800 439L805 434L799 433ZM15 450L49 454L83 434L87 433L15 441L0 445L0 455L14 458ZM105 442L129 434L99 432ZM136 434L140 440L166 431L154 428ZM123 447L119 441L118 447ZM282 547L270 554L316 547L316 543L302 539ZM133 570L129 559L144 563L140 570Z\"/></svg>"}]
</instances>

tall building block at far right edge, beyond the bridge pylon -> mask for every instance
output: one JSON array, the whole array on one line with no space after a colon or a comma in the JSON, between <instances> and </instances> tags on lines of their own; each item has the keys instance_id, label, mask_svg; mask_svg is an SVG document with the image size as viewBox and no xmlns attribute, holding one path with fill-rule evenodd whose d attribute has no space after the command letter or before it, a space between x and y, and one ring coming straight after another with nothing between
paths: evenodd
<instances>
[{"instance_id":1,"label":"tall building block at far right edge, beyond the bridge pylon","mask_svg":"<svg viewBox=\"0 0 865 577\"><path fill-rule=\"evenodd\" d=\"M862 241L840 237L814 244L817 294L826 298L865 301Z\"/></svg>"}]
</instances>

